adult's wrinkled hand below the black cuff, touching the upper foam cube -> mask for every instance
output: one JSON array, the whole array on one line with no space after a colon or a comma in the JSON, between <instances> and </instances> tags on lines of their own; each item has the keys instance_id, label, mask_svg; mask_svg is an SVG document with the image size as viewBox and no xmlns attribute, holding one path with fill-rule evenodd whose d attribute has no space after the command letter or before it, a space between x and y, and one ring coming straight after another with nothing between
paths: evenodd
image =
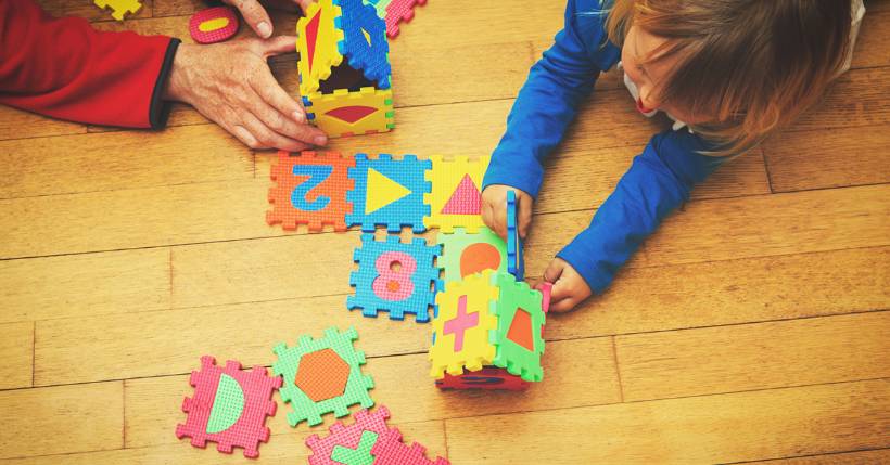
<instances>
[{"instance_id":1,"label":"adult's wrinkled hand below the black cuff, touching the upper foam cube","mask_svg":"<svg viewBox=\"0 0 890 465\"><path fill-rule=\"evenodd\" d=\"M306 122L303 106L278 85L266 60L295 51L296 38L181 43L165 100L186 102L251 148L298 152L328 138Z\"/></svg>"}]
</instances>

